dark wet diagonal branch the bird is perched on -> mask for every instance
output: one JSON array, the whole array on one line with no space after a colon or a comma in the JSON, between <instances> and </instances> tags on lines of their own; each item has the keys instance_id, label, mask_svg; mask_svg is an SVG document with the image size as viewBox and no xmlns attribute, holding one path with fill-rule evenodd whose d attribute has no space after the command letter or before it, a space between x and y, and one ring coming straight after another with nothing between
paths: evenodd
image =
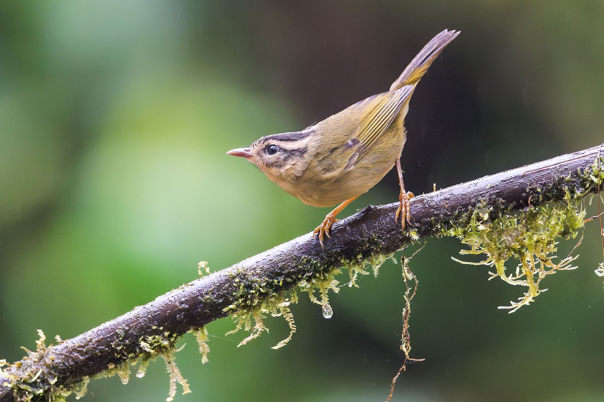
<instances>
[{"instance_id":1,"label":"dark wet diagonal branch the bird is perched on","mask_svg":"<svg viewBox=\"0 0 604 402\"><path fill-rule=\"evenodd\" d=\"M243 307L253 310L304 281L329 281L335 268L378 260L421 237L463 227L477 206L505 215L597 192L604 174L594 161L600 161L601 151L604 144L416 196L405 233L394 222L396 203L368 206L333 225L324 249L310 233L304 234L184 284L76 338L50 347L41 340L36 351L0 371L0 402L50 400L82 391L88 378L116 368L129 372L127 366L134 361L162 356L172 362L173 345L182 334L196 331L199 337L208 322ZM288 304L275 306L286 314Z\"/></svg>"}]
</instances>

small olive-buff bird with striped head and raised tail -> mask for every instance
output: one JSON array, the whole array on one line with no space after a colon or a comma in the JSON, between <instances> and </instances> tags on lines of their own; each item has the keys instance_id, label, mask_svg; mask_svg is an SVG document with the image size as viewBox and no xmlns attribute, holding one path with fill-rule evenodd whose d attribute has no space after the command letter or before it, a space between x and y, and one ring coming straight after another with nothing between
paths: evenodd
<instances>
[{"instance_id":1,"label":"small olive-buff bird with striped head and raised tail","mask_svg":"<svg viewBox=\"0 0 604 402\"><path fill-rule=\"evenodd\" d=\"M313 236L323 247L336 215L371 187L396 164L399 174L401 227L410 222L413 193L406 192L400 155L405 145L403 121L409 99L420 78L457 35L444 30L428 42L390 86L388 92L370 96L302 131L272 134L257 139L248 148L226 152L257 166L283 190L313 207L330 207Z\"/></svg>"}]
</instances>

